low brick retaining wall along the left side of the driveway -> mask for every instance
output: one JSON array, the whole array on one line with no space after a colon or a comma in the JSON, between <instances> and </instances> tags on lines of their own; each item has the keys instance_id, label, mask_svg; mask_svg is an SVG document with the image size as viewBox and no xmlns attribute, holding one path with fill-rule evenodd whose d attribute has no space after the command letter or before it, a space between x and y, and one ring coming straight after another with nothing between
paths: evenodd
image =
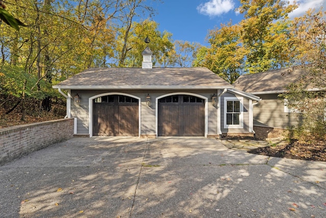
<instances>
[{"instance_id":1,"label":"low brick retaining wall along the left side of the driveway","mask_svg":"<svg viewBox=\"0 0 326 218\"><path fill-rule=\"evenodd\" d=\"M0 129L0 165L73 137L74 119Z\"/></svg>"}]
</instances>

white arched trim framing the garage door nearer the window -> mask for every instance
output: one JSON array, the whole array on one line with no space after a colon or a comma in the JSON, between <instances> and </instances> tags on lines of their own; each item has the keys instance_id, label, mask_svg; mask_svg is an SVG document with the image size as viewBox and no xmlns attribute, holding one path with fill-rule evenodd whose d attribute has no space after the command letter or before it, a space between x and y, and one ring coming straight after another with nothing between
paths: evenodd
<instances>
[{"instance_id":1,"label":"white arched trim framing the garage door nearer the window","mask_svg":"<svg viewBox=\"0 0 326 218\"><path fill-rule=\"evenodd\" d=\"M198 98L204 99L205 100L205 133L204 136L205 138L207 138L207 133L208 133L208 98L206 98L203 95L200 94L196 94L196 93L192 93L192 92L172 92L172 93L168 93L168 94L164 94L164 95L160 95L155 99L155 133L156 133L156 137L158 136L158 100L161 98L164 98L166 96L170 96L170 95L176 95L176 94L187 94L187 95L193 95L196 96Z\"/></svg>"}]
</instances>

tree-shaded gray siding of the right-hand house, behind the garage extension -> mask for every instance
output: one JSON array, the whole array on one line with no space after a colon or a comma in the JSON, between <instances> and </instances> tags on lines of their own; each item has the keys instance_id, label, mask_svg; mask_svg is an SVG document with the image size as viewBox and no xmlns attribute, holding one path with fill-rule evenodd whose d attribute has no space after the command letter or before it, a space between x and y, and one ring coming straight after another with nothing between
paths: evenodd
<instances>
[{"instance_id":1,"label":"tree-shaded gray siding of the right-hand house, behind the garage extension","mask_svg":"<svg viewBox=\"0 0 326 218\"><path fill-rule=\"evenodd\" d=\"M297 126L300 113L284 112L284 100L278 94L258 95L262 99L254 105L254 125L287 128Z\"/></svg>"}]
</instances>

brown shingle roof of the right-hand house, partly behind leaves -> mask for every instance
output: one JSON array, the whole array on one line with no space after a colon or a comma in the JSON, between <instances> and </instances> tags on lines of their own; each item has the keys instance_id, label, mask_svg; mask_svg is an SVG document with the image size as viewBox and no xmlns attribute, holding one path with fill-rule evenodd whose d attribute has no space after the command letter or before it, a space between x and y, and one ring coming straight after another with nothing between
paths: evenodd
<instances>
[{"instance_id":1,"label":"brown shingle roof of the right-hand house, partly behind leaves","mask_svg":"<svg viewBox=\"0 0 326 218\"><path fill-rule=\"evenodd\" d=\"M263 92L284 92L286 86L294 83L306 74L301 66L241 75L234 83L236 89L258 94ZM309 87L306 87L309 88Z\"/></svg>"}]
</instances>

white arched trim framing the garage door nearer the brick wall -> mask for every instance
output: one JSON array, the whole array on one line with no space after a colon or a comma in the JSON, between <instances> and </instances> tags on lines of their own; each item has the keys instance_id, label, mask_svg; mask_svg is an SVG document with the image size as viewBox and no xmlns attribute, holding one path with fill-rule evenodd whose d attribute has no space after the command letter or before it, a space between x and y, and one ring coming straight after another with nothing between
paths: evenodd
<instances>
[{"instance_id":1,"label":"white arched trim framing the garage door nearer the brick wall","mask_svg":"<svg viewBox=\"0 0 326 218\"><path fill-rule=\"evenodd\" d=\"M112 94L121 94L121 95L126 95L129 96L131 98L134 99L138 99L138 137L141 137L141 98L139 98L138 96L132 95L132 94L127 94L127 93L123 93L123 92L106 92L106 93L101 93L101 94L97 94L94 95L92 97L90 97L88 99L88 120L89 120L89 134L90 137L93 137L93 100L97 99L101 96L105 96L105 95L112 95Z\"/></svg>"}]
</instances>

